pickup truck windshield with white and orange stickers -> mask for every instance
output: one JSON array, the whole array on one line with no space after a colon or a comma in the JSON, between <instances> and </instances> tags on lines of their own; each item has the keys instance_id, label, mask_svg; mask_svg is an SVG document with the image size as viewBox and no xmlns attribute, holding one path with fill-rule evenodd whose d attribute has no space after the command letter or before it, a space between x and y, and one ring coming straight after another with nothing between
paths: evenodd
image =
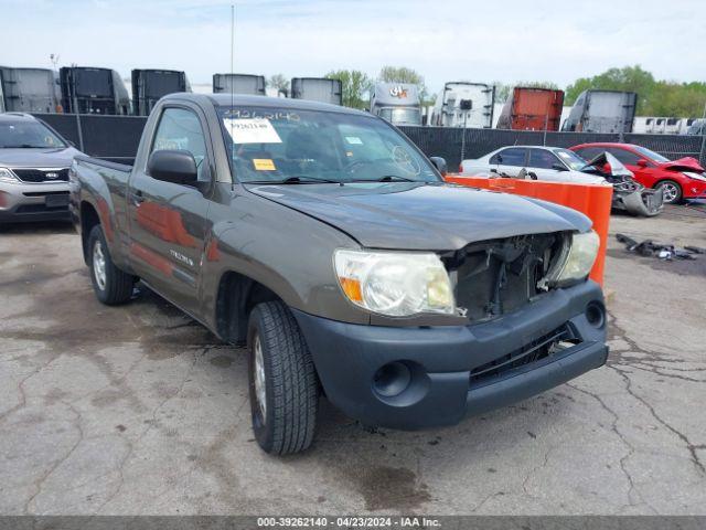
<instances>
[{"instance_id":1,"label":"pickup truck windshield with white and orange stickers","mask_svg":"<svg viewBox=\"0 0 706 530\"><path fill-rule=\"evenodd\" d=\"M372 116L287 108L221 110L240 182L438 182L409 140Z\"/></svg>"}]
</instances>

